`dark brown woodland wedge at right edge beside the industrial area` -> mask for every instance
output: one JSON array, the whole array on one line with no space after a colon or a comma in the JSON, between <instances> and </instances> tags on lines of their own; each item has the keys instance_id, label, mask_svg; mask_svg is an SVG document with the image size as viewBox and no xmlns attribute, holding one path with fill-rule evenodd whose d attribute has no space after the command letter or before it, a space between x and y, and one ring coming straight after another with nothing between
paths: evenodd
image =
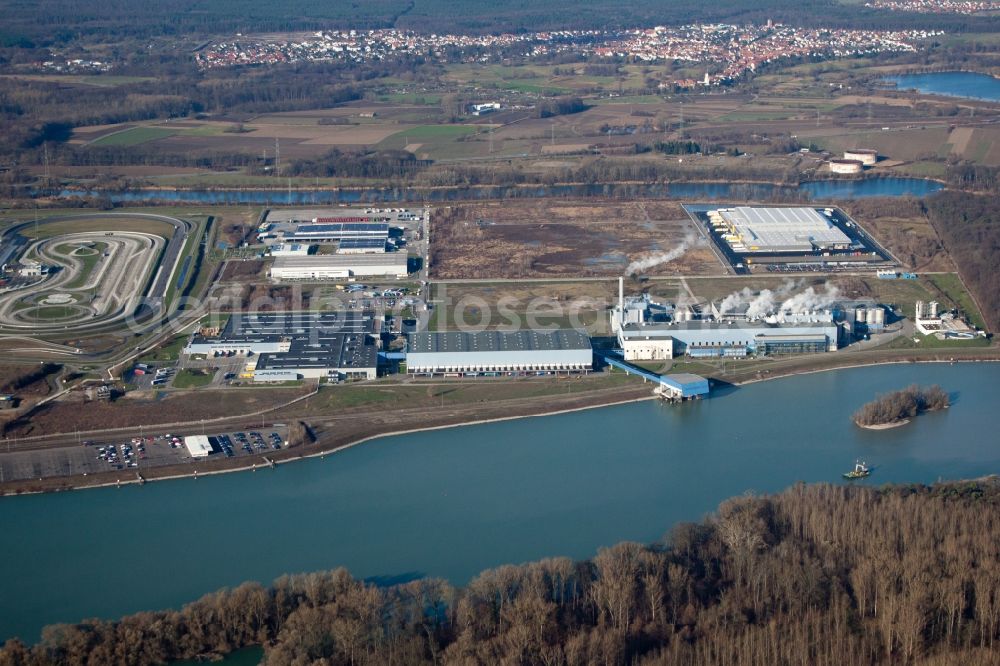
<instances>
[{"instance_id":1,"label":"dark brown woodland wedge at right edge beside the industrial area","mask_svg":"<svg viewBox=\"0 0 1000 666\"><path fill-rule=\"evenodd\" d=\"M940 192L927 200L927 214L987 326L1000 330L1000 199Z\"/></svg>"}]
</instances>

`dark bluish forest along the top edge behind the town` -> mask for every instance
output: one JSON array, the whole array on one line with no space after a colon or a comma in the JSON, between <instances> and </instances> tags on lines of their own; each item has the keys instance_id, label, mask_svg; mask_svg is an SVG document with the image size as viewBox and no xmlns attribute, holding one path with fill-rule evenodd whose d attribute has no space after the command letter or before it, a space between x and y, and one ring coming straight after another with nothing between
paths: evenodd
<instances>
[{"instance_id":1,"label":"dark bluish forest along the top edge behind the town","mask_svg":"<svg viewBox=\"0 0 1000 666\"><path fill-rule=\"evenodd\" d=\"M608 3L575 0L571 11L556 0L489 3L463 0L2 0L3 44L61 44L77 39L211 36L287 32L323 28L396 27L427 32L500 33L537 30L602 29L702 23L765 23L873 29L943 29L992 32L997 17L910 14L821 0L636 0ZM27 11L27 10L33 11Z\"/></svg>"}]
</instances>

